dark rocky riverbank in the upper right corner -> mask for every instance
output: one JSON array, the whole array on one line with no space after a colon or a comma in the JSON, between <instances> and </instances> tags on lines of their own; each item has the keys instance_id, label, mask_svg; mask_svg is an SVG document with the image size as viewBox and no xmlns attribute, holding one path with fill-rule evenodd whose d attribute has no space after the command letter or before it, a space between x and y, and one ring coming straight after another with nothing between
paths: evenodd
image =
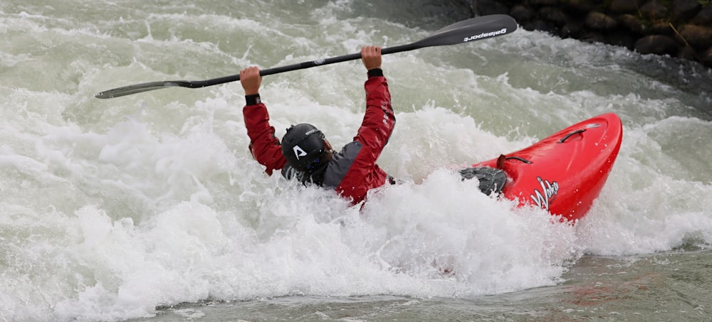
<instances>
[{"instance_id":1,"label":"dark rocky riverbank in the upper right corner","mask_svg":"<svg viewBox=\"0 0 712 322\"><path fill-rule=\"evenodd\" d=\"M712 68L711 0L471 0L475 16L508 14L528 30L620 45Z\"/></svg>"}]
</instances>

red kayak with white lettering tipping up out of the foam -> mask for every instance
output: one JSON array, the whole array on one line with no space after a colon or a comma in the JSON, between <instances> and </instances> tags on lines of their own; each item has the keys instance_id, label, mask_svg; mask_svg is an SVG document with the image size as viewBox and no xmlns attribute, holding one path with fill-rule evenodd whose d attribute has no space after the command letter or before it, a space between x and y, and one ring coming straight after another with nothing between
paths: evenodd
<instances>
[{"instance_id":1,"label":"red kayak with white lettering tipping up out of the foam","mask_svg":"<svg viewBox=\"0 0 712 322\"><path fill-rule=\"evenodd\" d=\"M619 117L602 114L543 139L525 149L473 164L461 171L476 176L505 198L579 220L591 208L618 156L623 137ZM477 173L485 169L491 173ZM501 169L503 171L496 171ZM473 170L473 173L468 171ZM493 178L498 176L500 178ZM506 175L506 178L504 177ZM499 185L499 187L498 187ZM501 186L503 185L503 187ZM488 192L483 189L483 192Z\"/></svg>"}]
</instances>

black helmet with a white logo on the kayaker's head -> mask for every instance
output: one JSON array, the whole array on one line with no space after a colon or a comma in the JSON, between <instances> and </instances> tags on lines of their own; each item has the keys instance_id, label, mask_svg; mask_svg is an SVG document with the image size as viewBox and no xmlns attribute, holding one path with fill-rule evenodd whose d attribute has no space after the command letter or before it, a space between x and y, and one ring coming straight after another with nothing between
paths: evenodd
<instances>
[{"instance_id":1,"label":"black helmet with a white logo on the kayaker's head","mask_svg":"<svg viewBox=\"0 0 712 322\"><path fill-rule=\"evenodd\" d=\"M330 149L324 134L312 124L293 125L282 137L284 159L297 171L314 170L321 156Z\"/></svg>"}]
</instances>

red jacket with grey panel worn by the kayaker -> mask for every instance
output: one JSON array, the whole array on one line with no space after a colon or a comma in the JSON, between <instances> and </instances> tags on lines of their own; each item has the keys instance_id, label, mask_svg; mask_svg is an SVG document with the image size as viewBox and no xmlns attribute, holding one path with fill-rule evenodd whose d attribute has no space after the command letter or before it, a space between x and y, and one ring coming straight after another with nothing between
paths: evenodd
<instances>
[{"instance_id":1,"label":"red jacket with grey panel worn by the kayaker","mask_svg":"<svg viewBox=\"0 0 712 322\"><path fill-rule=\"evenodd\" d=\"M328 164L323 186L333 188L339 195L360 203L368 190L392 180L376 164L378 156L393 132L395 116L391 106L388 83L381 70L370 70L365 83L366 113L354 141L334 154ZM263 103L243 108L245 127L250 137L252 156L271 175L274 170L288 166L282 155L274 127L269 124L267 107ZM284 171L283 171L284 173Z\"/></svg>"}]
</instances>

